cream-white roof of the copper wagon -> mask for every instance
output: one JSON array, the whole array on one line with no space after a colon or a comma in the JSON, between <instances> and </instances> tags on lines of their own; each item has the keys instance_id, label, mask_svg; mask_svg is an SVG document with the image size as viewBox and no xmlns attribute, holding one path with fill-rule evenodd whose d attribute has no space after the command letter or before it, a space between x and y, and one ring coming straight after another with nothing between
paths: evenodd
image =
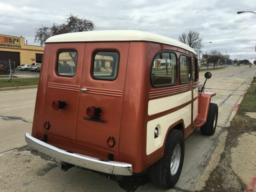
<instances>
[{"instance_id":1,"label":"cream-white roof of the copper wagon","mask_svg":"<svg viewBox=\"0 0 256 192\"><path fill-rule=\"evenodd\" d=\"M85 31L76 33L66 33L52 36L46 40L46 43L54 42L110 42L110 41L148 41L161 44L168 44L183 48L194 54L196 52L190 46L162 35L137 31L137 30L101 30Z\"/></svg>"}]
</instances>

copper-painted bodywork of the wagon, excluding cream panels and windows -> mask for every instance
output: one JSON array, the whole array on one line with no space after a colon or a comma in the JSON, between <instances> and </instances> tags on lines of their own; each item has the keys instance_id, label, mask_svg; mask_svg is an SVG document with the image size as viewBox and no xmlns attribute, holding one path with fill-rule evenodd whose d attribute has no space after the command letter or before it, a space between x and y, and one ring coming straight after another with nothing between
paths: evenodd
<instances>
[{"instance_id":1,"label":"copper-painted bodywork of the wagon, excluding cream panels and windows","mask_svg":"<svg viewBox=\"0 0 256 192\"><path fill-rule=\"evenodd\" d=\"M59 50L77 50L78 64L74 77L60 77L55 73L56 57ZM120 53L118 77L113 81L95 80L90 72L92 54L95 50L116 50ZM169 129L180 124L186 139L198 127L199 120L207 117L208 108L204 106L213 94L200 94L199 113L193 122L193 81L181 84L177 68L177 82L174 86L153 88L150 83L150 68L154 56L161 50L174 52L179 58L185 54L192 58L196 55L165 44L153 42L84 42L46 44L38 84L32 136L40 140L48 135L48 143L74 153L84 154L103 160L108 154L114 155L114 161L132 164L133 172L142 172L148 166L162 158L164 145L151 154L146 154L147 123L150 120L170 114L187 105L192 105L191 122L184 127L184 121L178 120ZM179 65L179 59L177 60ZM191 63L192 65L192 63ZM198 71L197 71L198 73ZM193 79L193 77L192 77ZM80 88L88 88L82 93ZM148 115L148 102L192 92L189 102L175 108ZM67 109L54 111L52 101L65 100ZM86 108L102 107L101 120L105 123L84 120ZM206 114L203 114L206 113ZM71 116L69 116L70 114ZM50 122L45 130L44 122ZM116 144L109 148L106 140L114 136ZM164 141L165 144L165 141Z\"/></svg>"}]
</instances>

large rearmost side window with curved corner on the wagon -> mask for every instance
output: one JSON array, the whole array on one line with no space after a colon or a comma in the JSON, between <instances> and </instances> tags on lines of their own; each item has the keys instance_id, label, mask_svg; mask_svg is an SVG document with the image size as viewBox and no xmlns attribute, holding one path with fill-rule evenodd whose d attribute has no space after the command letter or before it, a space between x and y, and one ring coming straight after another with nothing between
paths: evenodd
<instances>
[{"instance_id":1,"label":"large rearmost side window with curved corner on the wagon","mask_svg":"<svg viewBox=\"0 0 256 192\"><path fill-rule=\"evenodd\" d=\"M176 83L176 54L162 52L158 54L151 67L150 78L153 86L168 86Z\"/></svg>"}]
</instances>

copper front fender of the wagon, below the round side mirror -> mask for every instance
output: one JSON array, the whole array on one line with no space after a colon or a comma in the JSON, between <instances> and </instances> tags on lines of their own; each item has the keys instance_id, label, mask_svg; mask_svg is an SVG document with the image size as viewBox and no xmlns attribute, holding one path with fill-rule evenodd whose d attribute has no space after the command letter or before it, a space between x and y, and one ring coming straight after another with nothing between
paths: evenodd
<instances>
[{"instance_id":1,"label":"copper front fender of the wagon, below the round side mirror","mask_svg":"<svg viewBox=\"0 0 256 192\"><path fill-rule=\"evenodd\" d=\"M207 120L209 106L212 96L216 95L215 92L206 91L199 94L198 103L198 116L196 118L196 128L202 127Z\"/></svg>"}]
</instances>

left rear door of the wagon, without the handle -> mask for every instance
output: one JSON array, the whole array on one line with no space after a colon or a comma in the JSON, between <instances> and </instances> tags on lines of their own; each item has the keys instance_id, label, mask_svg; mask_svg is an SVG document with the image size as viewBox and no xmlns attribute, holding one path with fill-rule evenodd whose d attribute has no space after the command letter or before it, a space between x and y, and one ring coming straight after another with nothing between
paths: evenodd
<instances>
[{"instance_id":1,"label":"left rear door of the wagon, without the handle","mask_svg":"<svg viewBox=\"0 0 256 192\"><path fill-rule=\"evenodd\" d=\"M68 140L76 138L76 124L85 43L56 43L51 45L47 74L43 132ZM54 110L52 102L66 102L66 108Z\"/></svg>"}]
</instances>

